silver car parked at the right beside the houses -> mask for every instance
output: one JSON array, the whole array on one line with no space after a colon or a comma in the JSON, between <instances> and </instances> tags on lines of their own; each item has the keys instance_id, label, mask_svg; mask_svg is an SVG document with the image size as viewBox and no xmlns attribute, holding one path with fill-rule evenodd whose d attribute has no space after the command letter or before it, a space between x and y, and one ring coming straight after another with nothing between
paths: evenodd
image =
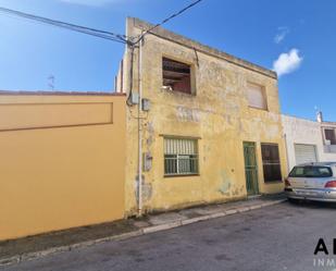
<instances>
[{"instance_id":1,"label":"silver car parked at the right beside the houses","mask_svg":"<svg viewBox=\"0 0 336 271\"><path fill-rule=\"evenodd\" d=\"M304 163L294 167L285 181L290 200L336 202L336 162Z\"/></svg>"}]
</instances>

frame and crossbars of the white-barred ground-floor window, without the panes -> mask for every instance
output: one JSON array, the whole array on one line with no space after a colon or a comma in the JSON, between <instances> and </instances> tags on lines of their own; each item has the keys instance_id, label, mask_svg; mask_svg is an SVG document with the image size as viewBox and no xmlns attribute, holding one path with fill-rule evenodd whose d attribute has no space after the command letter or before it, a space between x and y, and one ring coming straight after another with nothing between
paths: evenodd
<instances>
[{"instance_id":1,"label":"frame and crossbars of the white-barred ground-floor window, without the panes","mask_svg":"<svg viewBox=\"0 0 336 271\"><path fill-rule=\"evenodd\" d=\"M175 177L175 176L199 176L200 170L199 170L199 138L195 137L185 137L185 136L163 136L163 146L165 145L166 139L173 139L173 140L192 140L195 143L195 153L194 155L186 155L186 153L165 153L165 147L163 147L163 176L164 177ZM171 156L171 158L167 158L167 156ZM195 167L195 172L179 172L179 162L188 156L189 167ZM167 173L166 171L166 160L167 159L176 159L176 173ZM194 165L190 165L190 161L195 161Z\"/></svg>"}]
</instances>

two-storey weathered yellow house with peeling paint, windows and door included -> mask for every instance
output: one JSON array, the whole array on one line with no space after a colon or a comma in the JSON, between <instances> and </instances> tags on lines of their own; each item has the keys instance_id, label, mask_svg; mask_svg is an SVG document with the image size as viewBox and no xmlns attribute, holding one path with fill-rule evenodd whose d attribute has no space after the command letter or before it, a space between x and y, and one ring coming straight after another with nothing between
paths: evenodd
<instances>
[{"instance_id":1,"label":"two-storey weathered yellow house with peeling paint, windows and door included","mask_svg":"<svg viewBox=\"0 0 336 271\"><path fill-rule=\"evenodd\" d=\"M127 19L126 35L150 27ZM283 190L273 71L158 27L126 48L116 83L128 97L128 215Z\"/></svg>"}]
</instances>

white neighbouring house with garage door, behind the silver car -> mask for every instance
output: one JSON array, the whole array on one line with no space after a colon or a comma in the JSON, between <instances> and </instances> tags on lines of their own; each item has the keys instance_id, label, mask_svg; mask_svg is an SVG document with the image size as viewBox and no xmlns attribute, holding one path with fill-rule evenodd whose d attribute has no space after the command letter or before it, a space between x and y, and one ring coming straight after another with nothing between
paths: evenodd
<instances>
[{"instance_id":1,"label":"white neighbouring house with garage door, behind the silver car","mask_svg":"<svg viewBox=\"0 0 336 271\"><path fill-rule=\"evenodd\" d=\"M321 112L316 122L289 115L282 119L288 170L300 163L336 161L336 123L323 122Z\"/></svg>"}]
</instances>

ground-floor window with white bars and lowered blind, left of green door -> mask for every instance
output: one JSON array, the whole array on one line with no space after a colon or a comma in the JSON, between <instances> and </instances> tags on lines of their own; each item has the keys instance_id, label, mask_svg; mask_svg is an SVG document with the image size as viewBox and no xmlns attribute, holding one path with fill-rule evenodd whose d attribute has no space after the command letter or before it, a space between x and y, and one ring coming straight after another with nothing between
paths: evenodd
<instances>
[{"instance_id":1,"label":"ground-floor window with white bars and lowered blind, left of green door","mask_svg":"<svg viewBox=\"0 0 336 271\"><path fill-rule=\"evenodd\" d=\"M164 138L164 175L198 174L197 139Z\"/></svg>"}]
</instances>

